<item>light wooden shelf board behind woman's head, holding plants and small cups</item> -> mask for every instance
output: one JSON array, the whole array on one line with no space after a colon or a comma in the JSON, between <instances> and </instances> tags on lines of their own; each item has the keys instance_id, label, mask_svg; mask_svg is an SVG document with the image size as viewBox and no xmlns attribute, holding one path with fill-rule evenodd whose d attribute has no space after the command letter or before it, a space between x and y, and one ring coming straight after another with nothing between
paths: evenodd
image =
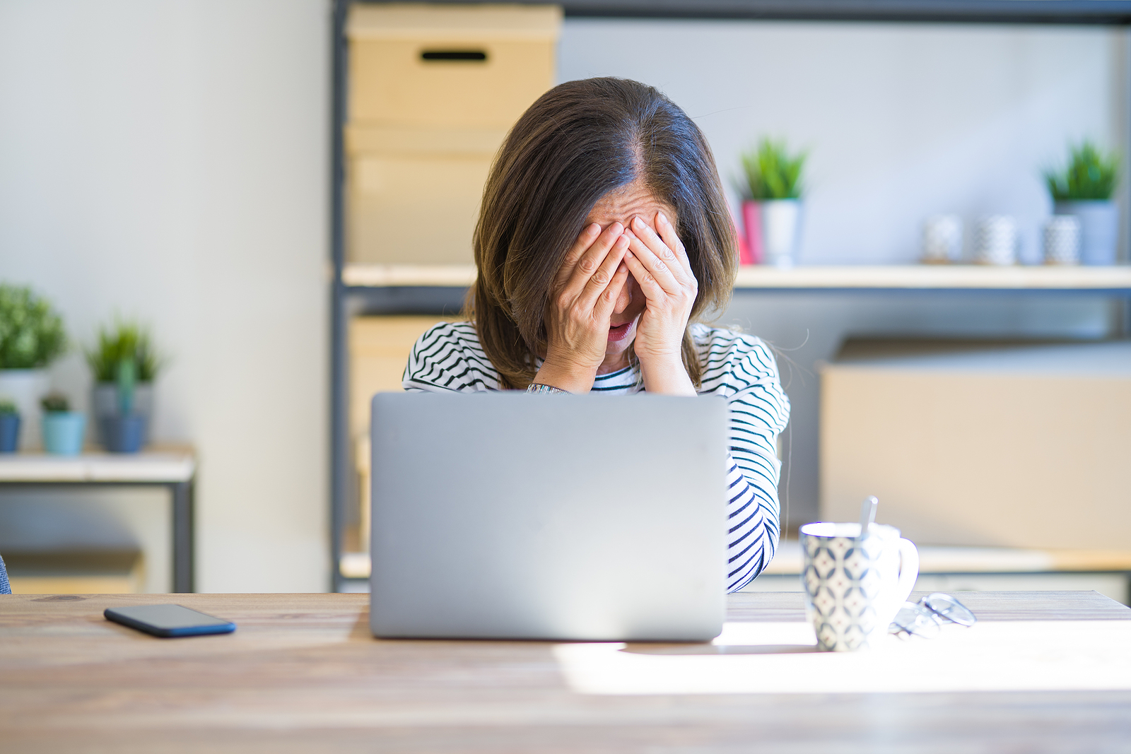
<instances>
[{"instance_id":1,"label":"light wooden shelf board behind woman's head, holding plants and small cups","mask_svg":"<svg viewBox=\"0 0 1131 754\"><path fill-rule=\"evenodd\" d=\"M458 287L475 281L472 265L348 265L355 288ZM1131 293L1131 267L984 267L895 265L739 268L736 289L766 291L1110 291Z\"/></svg>"}]
</instances>

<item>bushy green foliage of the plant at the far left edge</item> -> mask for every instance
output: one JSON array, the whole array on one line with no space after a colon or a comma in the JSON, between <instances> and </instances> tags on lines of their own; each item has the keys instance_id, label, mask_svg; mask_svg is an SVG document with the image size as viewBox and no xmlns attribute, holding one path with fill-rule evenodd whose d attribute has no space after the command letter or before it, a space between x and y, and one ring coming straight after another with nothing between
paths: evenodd
<instances>
[{"instance_id":1,"label":"bushy green foliage of the plant at the far left edge","mask_svg":"<svg viewBox=\"0 0 1131 754\"><path fill-rule=\"evenodd\" d=\"M0 284L0 369L46 366L67 349L63 320L28 287Z\"/></svg>"}]
</instances>

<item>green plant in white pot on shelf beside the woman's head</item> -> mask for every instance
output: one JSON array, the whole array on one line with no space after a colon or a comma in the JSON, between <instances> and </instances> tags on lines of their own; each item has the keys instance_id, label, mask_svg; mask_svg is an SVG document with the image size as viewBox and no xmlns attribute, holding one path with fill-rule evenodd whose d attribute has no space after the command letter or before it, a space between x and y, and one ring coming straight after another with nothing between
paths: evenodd
<instances>
[{"instance_id":1,"label":"green plant in white pot on shelf beside the woman's head","mask_svg":"<svg viewBox=\"0 0 1131 754\"><path fill-rule=\"evenodd\" d=\"M809 154L791 154L785 141L762 139L742 156L742 217L751 260L791 267L801 240L802 171Z\"/></svg>"}]
</instances>

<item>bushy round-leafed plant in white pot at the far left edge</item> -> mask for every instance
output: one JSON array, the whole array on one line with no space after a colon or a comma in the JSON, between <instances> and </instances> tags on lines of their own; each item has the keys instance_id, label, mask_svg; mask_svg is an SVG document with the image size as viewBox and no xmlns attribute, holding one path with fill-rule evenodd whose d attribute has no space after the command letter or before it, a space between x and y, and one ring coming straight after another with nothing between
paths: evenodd
<instances>
[{"instance_id":1,"label":"bushy round-leafed plant in white pot at the far left edge","mask_svg":"<svg viewBox=\"0 0 1131 754\"><path fill-rule=\"evenodd\" d=\"M0 395L23 417L23 445L40 444L46 366L67 349L62 318L28 287L0 284Z\"/></svg>"}]
</instances>

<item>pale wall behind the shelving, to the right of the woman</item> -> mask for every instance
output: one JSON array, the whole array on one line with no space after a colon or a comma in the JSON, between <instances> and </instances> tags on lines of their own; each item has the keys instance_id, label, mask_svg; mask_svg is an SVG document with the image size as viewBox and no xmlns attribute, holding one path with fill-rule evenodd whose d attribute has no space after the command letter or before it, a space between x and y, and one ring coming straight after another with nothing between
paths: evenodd
<instances>
[{"instance_id":1,"label":"pale wall behind the shelving, to the right of the woman","mask_svg":"<svg viewBox=\"0 0 1131 754\"><path fill-rule=\"evenodd\" d=\"M802 263L914 261L923 218L940 211L968 225L1016 215L1034 261L1050 210L1041 168L1086 136L1131 151L1123 31L567 19L559 61L560 80L665 92L703 129L724 181L760 136L809 148ZM1098 337L1110 322L1105 302L1060 295L765 293L737 294L722 320L786 349L791 526L819 518L817 373L844 337Z\"/></svg>"}]
</instances>

